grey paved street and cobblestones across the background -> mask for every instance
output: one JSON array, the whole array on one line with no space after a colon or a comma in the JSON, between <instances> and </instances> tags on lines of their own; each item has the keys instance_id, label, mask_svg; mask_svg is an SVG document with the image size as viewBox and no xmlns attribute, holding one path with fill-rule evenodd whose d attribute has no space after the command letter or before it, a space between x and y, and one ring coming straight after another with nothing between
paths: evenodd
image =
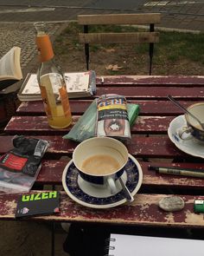
<instances>
[{"instance_id":1,"label":"grey paved street and cobblestones across the background","mask_svg":"<svg viewBox=\"0 0 204 256\"><path fill-rule=\"evenodd\" d=\"M194 1L155 1L135 0L53 0L39 1L1 0L0 6L0 57L14 45L22 48L22 71L31 71L35 59L35 30L33 23L37 20L48 22L48 31L56 36L68 20L76 19L80 13L120 13L120 12L161 12L162 22L159 25L165 30L193 30L204 32L204 2ZM120 10L118 10L118 2ZM19 4L14 6L14 4ZM32 5L31 5L32 4Z\"/></svg>"}]
</instances>

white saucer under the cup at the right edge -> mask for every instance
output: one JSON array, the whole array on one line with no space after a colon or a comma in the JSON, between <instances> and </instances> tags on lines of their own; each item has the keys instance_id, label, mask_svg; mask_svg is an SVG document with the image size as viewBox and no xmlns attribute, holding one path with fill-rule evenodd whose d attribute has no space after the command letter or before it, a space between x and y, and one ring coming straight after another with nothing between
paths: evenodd
<instances>
[{"instance_id":1,"label":"white saucer under the cup at the right edge","mask_svg":"<svg viewBox=\"0 0 204 256\"><path fill-rule=\"evenodd\" d=\"M190 139L187 141L183 141L176 134L176 130L178 128L182 128L185 126L186 120L184 115L179 115L175 117L169 124L168 135L169 139L175 143L175 146L185 152L187 154L191 154L193 156L204 158L204 143L200 141L196 141L195 139Z\"/></svg>"}]
</instances>

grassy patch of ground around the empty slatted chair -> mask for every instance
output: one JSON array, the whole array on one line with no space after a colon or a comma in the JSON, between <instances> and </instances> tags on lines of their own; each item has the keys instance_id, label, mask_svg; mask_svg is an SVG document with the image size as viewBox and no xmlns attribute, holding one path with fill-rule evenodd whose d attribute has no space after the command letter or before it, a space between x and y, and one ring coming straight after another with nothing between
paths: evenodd
<instances>
[{"instance_id":1,"label":"grassy patch of ground around the empty slatted chair","mask_svg":"<svg viewBox=\"0 0 204 256\"><path fill-rule=\"evenodd\" d=\"M133 26L113 25L94 25L89 28L89 32L136 32L141 30L143 29ZM82 62L85 62L84 46L78 40L78 34L80 32L83 32L82 26L77 23L69 23L67 29L56 38L54 51L58 56L63 58L63 62L65 57L70 55L73 55L74 59L81 59ZM186 67L190 66L189 70L191 70L192 75L203 75L204 33L192 34L160 31L159 38L159 43L155 43L154 47L154 74L174 75L175 73L177 75L180 72L178 74L185 75L184 64ZM114 50L110 52L108 49ZM149 43L90 44L90 63L98 67L99 63L102 62L100 69L105 69L106 64L111 64L113 61L116 62L117 56L114 55L118 56L118 65L124 66L124 63L127 63L127 67L124 67L125 74L127 74L127 70L130 70L130 72L132 70L131 74L135 74L135 70L141 70L137 75L143 75L143 73L147 75L143 70L146 70L148 67ZM64 64L66 65L66 63ZM165 69L164 66L167 68ZM181 70L179 70L179 66L182 66ZM92 69L92 65L90 67ZM172 74L169 73L171 70ZM123 70L119 72L122 74ZM115 74L116 72L113 73ZM110 70L108 75L112 75L113 73ZM190 75L189 71L187 75Z\"/></svg>"}]
</instances>

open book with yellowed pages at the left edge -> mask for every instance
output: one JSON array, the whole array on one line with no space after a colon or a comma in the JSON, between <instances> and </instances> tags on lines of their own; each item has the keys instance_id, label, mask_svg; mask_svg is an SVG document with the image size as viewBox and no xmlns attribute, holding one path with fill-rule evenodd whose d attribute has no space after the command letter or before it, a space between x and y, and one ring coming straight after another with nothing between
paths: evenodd
<instances>
[{"instance_id":1,"label":"open book with yellowed pages at the left edge","mask_svg":"<svg viewBox=\"0 0 204 256\"><path fill-rule=\"evenodd\" d=\"M13 47L0 59L0 90L22 79L21 48Z\"/></svg>"}]
</instances>

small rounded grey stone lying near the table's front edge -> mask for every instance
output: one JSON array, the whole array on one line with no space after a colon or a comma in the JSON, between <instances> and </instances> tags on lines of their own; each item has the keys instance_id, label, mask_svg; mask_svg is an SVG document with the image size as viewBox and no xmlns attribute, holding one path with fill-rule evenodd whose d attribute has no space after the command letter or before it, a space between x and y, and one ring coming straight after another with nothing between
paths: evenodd
<instances>
[{"instance_id":1,"label":"small rounded grey stone lying near the table's front edge","mask_svg":"<svg viewBox=\"0 0 204 256\"><path fill-rule=\"evenodd\" d=\"M166 212L181 211L184 205L184 200L179 196L168 196L159 201L159 207Z\"/></svg>"}]
</instances>

